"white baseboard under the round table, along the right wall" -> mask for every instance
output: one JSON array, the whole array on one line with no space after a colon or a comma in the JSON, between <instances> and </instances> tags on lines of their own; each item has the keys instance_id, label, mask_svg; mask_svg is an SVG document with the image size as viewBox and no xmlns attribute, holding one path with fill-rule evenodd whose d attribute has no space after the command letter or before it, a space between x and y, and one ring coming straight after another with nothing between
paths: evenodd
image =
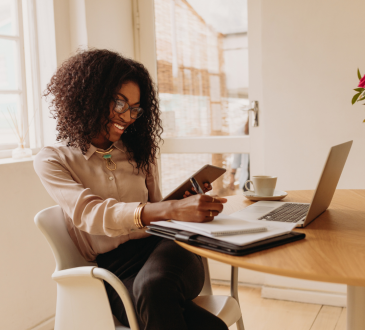
<instances>
[{"instance_id":1,"label":"white baseboard under the round table, along the right wall","mask_svg":"<svg viewBox=\"0 0 365 330\"><path fill-rule=\"evenodd\" d=\"M261 297L309 304L346 307L346 294L263 286Z\"/></svg>"}]
</instances>

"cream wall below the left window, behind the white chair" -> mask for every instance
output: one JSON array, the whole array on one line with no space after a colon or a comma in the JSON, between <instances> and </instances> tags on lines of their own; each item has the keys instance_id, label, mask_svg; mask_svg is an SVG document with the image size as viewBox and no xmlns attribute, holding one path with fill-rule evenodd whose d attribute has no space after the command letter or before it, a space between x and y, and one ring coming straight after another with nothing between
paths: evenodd
<instances>
[{"instance_id":1,"label":"cream wall below the left window, behind the white chair","mask_svg":"<svg viewBox=\"0 0 365 330\"><path fill-rule=\"evenodd\" d=\"M0 329L31 329L55 314L55 262L33 222L54 202L32 161L0 163L0 182Z\"/></svg>"}]
</instances>

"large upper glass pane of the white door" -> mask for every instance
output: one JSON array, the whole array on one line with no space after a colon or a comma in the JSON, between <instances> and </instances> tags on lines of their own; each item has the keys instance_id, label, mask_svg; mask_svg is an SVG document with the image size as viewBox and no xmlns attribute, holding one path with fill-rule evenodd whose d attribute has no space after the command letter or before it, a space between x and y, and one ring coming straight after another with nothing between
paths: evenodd
<instances>
[{"instance_id":1,"label":"large upper glass pane of the white door","mask_svg":"<svg viewBox=\"0 0 365 330\"><path fill-rule=\"evenodd\" d=\"M247 120L247 32L239 24L226 27L236 1L214 2L218 12L225 9L216 26L194 9L204 1L155 0L165 137L235 135Z\"/></svg>"}]
</instances>

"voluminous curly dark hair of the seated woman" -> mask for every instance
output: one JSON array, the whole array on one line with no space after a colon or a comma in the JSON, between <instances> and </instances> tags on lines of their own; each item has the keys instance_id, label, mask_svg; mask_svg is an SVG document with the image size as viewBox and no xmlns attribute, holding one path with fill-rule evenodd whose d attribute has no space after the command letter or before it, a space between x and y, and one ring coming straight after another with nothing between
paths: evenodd
<instances>
[{"instance_id":1,"label":"voluminous curly dark hair of the seated woman","mask_svg":"<svg viewBox=\"0 0 365 330\"><path fill-rule=\"evenodd\" d=\"M108 132L110 102L126 82L139 86L144 112L121 140L138 171L148 174L163 130L155 86L141 63L106 49L79 51L61 65L43 95L53 96L50 109L57 120L57 141L67 139L68 147L79 147L85 154L93 138L103 129Z\"/></svg>"}]
</instances>

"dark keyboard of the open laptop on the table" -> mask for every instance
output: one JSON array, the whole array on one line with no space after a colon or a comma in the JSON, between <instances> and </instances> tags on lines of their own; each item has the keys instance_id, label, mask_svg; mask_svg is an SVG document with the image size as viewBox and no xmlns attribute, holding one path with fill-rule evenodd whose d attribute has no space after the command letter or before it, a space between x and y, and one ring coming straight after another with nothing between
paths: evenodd
<instances>
[{"instance_id":1,"label":"dark keyboard of the open laptop on the table","mask_svg":"<svg viewBox=\"0 0 365 330\"><path fill-rule=\"evenodd\" d=\"M309 204L285 203L277 209L263 215L258 220L298 222L307 215L309 206Z\"/></svg>"}]
</instances>

